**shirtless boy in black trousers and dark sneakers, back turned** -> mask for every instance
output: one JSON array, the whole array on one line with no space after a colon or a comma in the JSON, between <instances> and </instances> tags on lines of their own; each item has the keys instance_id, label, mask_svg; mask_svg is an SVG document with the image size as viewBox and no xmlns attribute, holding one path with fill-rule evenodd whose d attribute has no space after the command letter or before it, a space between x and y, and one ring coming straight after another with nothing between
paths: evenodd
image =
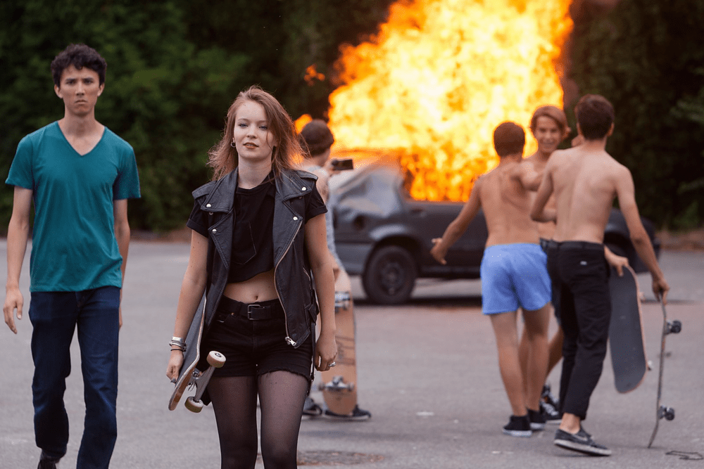
<instances>
[{"instance_id":1,"label":"shirtless boy in black trousers and dark sneakers, back turned","mask_svg":"<svg viewBox=\"0 0 704 469\"><path fill-rule=\"evenodd\" d=\"M631 242L653 277L655 297L665 302L670 289L643 228L629 170L605 151L614 129L614 110L606 98L583 96L575 108L584 142L558 150L548 160L531 210L536 221L556 221L548 245L548 269L560 297L562 347L560 408L562 420L554 443L593 456L611 451L582 428L589 398L601 376L606 355L611 303L603 233L618 198ZM555 194L554 209L546 208Z\"/></svg>"}]
</instances>

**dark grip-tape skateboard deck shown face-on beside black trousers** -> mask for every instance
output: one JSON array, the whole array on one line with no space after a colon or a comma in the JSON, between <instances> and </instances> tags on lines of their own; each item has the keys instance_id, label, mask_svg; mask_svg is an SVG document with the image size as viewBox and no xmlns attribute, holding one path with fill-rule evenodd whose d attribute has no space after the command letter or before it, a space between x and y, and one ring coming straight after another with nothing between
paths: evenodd
<instances>
[{"instance_id":1,"label":"dark grip-tape skateboard deck shown face-on beside black trousers","mask_svg":"<svg viewBox=\"0 0 704 469\"><path fill-rule=\"evenodd\" d=\"M648 369L640 290L633 269L624 267L623 276L619 276L612 268L609 288L609 343L614 384L618 392L630 392L643 383Z\"/></svg>"}]
</instances>

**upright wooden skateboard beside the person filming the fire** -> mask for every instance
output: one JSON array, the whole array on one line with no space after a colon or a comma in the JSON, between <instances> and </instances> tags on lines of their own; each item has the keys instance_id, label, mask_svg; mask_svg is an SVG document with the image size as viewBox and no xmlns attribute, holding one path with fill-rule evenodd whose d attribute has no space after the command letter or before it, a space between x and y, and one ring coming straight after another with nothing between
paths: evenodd
<instances>
[{"instance_id":1,"label":"upright wooden skateboard beside the person filming the fire","mask_svg":"<svg viewBox=\"0 0 704 469\"><path fill-rule=\"evenodd\" d=\"M320 373L320 390L327 408L348 415L357 405L355 321L350 278L341 271L335 282L336 365Z\"/></svg>"}]
</instances>

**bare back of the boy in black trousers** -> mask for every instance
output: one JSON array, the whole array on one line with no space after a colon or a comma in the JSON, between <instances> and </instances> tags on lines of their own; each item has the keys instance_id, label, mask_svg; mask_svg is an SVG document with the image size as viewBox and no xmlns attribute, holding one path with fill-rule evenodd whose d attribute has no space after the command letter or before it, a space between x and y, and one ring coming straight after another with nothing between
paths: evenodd
<instances>
[{"instance_id":1,"label":"bare back of the boy in black trousers","mask_svg":"<svg viewBox=\"0 0 704 469\"><path fill-rule=\"evenodd\" d=\"M547 171L557 201L553 239L603 243L617 181L628 169L605 150L582 145L555 152Z\"/></svg>"}]
</instances>

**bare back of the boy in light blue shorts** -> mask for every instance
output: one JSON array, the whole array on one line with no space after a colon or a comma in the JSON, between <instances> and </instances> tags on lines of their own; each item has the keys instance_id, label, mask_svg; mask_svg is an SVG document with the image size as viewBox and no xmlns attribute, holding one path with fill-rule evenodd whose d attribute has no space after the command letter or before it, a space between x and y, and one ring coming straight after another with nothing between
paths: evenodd
<instances>
[{"instance_id":1,"label":"bare back of the boy in light blue shorts","mask_svg":"<svg viewBox=\"0 0 704 469\"><path fill-rule=\"evenodd\" d=\"M487 246L539 243L536 223L529 217L531 200L518 177L518 165L518 161L502 161L477 181L489 230Z\"/></svg>"}]
</instances>

